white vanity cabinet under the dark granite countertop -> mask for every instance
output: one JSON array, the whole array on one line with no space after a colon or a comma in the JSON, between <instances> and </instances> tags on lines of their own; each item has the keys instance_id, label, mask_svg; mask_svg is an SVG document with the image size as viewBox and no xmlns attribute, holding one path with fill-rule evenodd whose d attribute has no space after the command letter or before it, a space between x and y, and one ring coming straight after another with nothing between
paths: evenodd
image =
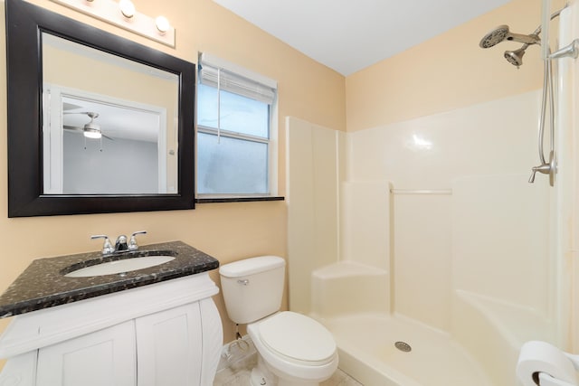
<instances>
[{"instance_id":1,"label":"white vanity cabinet under the dark granite countertop","mask_svg":"<svg viewBox=\"0 0 579 386\"><path fill-rule=\"evenodd\" d=\"M223 344L207 273L14 316L0 386L208 386Z\"/></svg>"}]
</instances>

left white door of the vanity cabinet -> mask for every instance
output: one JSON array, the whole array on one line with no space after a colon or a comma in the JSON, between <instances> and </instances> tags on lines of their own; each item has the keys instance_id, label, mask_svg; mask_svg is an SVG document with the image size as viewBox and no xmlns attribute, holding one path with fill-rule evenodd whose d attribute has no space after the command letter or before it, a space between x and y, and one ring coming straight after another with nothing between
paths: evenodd
<instances>
[{"instance_id":1,"label":"left white door of the vanity cabinet","mask_svg":"<svg viewBox=\"0 0 579 386\"><path fill-rule=\"evenodd\" d=\"M135 324L114 325L39 350L37 386L135 386Z\"/></svg>"}]
</instances>

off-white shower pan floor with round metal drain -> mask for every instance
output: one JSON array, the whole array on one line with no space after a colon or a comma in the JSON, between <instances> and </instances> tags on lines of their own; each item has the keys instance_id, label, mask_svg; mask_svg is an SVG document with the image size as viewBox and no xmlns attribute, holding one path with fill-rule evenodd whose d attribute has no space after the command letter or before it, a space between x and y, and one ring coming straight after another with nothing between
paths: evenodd
<instances>
[{"instance_id":1,"label":"off-white shower pan floor with round metal drain","mask_svg":"<svg viewBox=\"0 0 579 386\"><path fill-rule=\"evenodd\" d=\"M365 385L493 385L449 335L413 320L373 314L321 322L336 338L340 368Z\"/></svg>"}]
</instances>

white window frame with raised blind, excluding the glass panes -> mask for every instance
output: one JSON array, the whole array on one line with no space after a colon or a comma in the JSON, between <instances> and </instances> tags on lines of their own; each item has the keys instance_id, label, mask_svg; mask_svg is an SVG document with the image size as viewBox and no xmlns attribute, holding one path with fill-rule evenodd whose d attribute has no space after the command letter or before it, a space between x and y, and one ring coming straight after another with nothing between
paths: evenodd
<instances>
[{"instance_id":1,"label":"white window frame with raised blind, excluding the glass panes","mask_svg":"<svg viewBox=\"0 0 579 386\"><path fill-rule=\"evenodd\" d=\"M250 135L244 135L240 133L234 133L228 130L223 130L220 127L215 129L214 127L204 127L202 125L196 124L197 133L205 134L217 134L218 136L223 135L223 137L231 137L233 139L245 139L252 142L259 142L267 144L268 146L268 190L269 193L198 193L195 192L195 197L197 199L210 199L210 198L239 198L239 197L275 197L278 194L278 83L276 80L271 80L259 73L253 72L242 68L241 66L234 64L229 61L224 61L223 59L214 57L206 52L199 53L199 66L201 66L201 71L197 71L200 77L200 81L206 85L217 87L218 89L230 90L235 94L242 95L247 98L258 99L265 103L270 104L270 127L269 127L269 140L263 137L254 137ZM199 70L199 69L198 69ZM208 71L207 71L208 70ZM217 71L218 70L218 71ZM204 72L206 71L206 72ZM221 77L220 84L217 86L217 79ZM227 85L222 87L222 80L224 82L230 82L229 89ZM249 80L244 82L243 80ZM233 83L233 85L232 85ZM254 83L257 88L246 87L248 84ZM260 85L264 86L264 89L260 89ZM273 91L271 97L271 90ZM261 98L261 93L263 94ZM198 141L195 140L195 146L197 146ZM198 149L195 149L195 155L198 154ZM195 178L197 178L197 163L195 162ZM195 182L195 187L198 184Z\"/></svg>"}]
</instances>

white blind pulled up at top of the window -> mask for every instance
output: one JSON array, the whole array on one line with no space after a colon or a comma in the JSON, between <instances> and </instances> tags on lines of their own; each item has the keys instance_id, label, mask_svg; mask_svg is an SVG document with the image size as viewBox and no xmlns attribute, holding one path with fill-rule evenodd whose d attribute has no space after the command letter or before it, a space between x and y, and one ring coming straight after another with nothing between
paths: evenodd
<instances>
[{"instance_id":1,"label":"white blind pulled up at top of the window","mask_svg":"<svg viewBox=\"0 0 579 386\"><path fill-rule=\"evenodd\" d=\"M273 104L277 93L275 80L206 53L199 55L199 81L268 104Z\"/></svg>"}]
</instances>

